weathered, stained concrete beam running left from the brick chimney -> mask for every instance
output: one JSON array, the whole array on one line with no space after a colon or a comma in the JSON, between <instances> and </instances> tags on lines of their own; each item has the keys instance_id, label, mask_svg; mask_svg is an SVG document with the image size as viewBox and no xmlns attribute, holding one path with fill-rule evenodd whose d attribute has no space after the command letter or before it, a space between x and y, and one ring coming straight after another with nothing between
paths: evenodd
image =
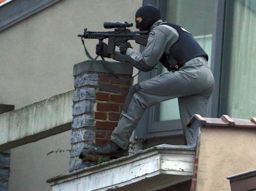
<instances>
[{"instance_id":1,"label":"weathered, stained concrete beam running left from the brick chimney","mask_svg":"<svg viewBox=\"0 0 256 191\"><path fill-rule=\"evenodd\" d=\"M0 152L71 129L73 90L0 115Z\"/></svg>"}]
</instances>

